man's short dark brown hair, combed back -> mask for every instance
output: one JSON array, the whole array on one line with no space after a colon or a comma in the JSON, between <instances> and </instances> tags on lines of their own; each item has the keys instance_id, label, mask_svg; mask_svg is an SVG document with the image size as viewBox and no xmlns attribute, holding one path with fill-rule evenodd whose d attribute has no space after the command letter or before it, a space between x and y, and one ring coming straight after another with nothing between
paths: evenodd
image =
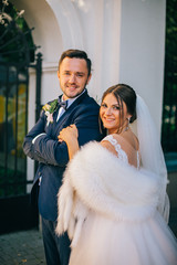
<instances>
[{"instance_id":1,"label":"man's short dark brown hair, combed back","mask_svg":"<svg viewBox=\"0 0 177 265\"><path fill-rule=\"evenodd\" d=\"M90 76L91 74L91 67L92 67L92 62L91 60L87 57L87 54L86 52L84 51L81 51L81 50L66 50L65 52L62 53L61 57L60 57L60 61L59 61L59 70L60 70L60 65L62 63L62 61L65 59L65 57L70 57L70 59L73 59L73 57L76 57L76 59L83 59L85 60L86 62L86 66L87 66L87 76Z\"/></svg>"}]
</instances>

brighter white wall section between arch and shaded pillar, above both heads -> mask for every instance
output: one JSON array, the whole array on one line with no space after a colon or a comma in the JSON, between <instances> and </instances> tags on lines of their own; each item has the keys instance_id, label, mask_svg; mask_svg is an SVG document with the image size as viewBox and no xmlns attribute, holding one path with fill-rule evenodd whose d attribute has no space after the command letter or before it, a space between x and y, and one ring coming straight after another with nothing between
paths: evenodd
<instances>
[{"instance_id":1,"label":"brighter white wall section between arch and shaded pillar, above both heads","mask_svg":"<svg viewBox=\"0 0 177 265\"><path fill-rule=\"evenodd\" d=\"M72 0L93 63L88 91L95 98L118 82L121 0Z\"/></svg>"}]
</instances>

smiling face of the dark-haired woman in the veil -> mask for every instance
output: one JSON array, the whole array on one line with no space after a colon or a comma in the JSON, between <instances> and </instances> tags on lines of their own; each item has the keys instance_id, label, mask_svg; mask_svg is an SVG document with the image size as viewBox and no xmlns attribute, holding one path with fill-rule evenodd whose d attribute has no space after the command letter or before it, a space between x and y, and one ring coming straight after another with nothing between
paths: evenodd
<instances>
[{"instance_id":1,"label":"smiling face of the dark-haired woman in the veil","mask_svg":"<svg viewBox=\"0 0 177 265\"><path fill-rule=\"evenodd\" d=\"M100 117L103 121L103 126L108 130L108 134L116 134L119 126L123 128L127 126L127 107L123 102L123 112L119 112L121 106L117 103L116 97L113 94L107 94L100 108ZM121 115L121 114L124 114Z\"/></svg>"}]
</instances>

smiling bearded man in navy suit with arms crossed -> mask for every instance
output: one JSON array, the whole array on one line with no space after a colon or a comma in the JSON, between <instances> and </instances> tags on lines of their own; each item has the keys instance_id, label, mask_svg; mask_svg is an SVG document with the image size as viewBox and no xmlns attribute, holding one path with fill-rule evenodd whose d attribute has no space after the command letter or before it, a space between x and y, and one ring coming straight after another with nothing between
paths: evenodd
<instances>
[{"instance_id":1,"label":"smiling bearded man in navy suit with arms crossed","mask_svg":"<svg viewBox=\"0 0 177 265\"><path fill-rule=\"evenodd\" d=\"M58 237L54 233L56 194L69 162L66 144L59 142L58 136L63 128L75 124L80 146L103 138L98 129L100 107L85 88L91 80L87 54L80 50L65 51L59 62L58 77L63 95L44 105L38 123L23 142L24 153L39 162L31 194L32 201L38 200L42 216L48 265L67 265L70 258L67 234Z\"/></svg>"}]
</instances>

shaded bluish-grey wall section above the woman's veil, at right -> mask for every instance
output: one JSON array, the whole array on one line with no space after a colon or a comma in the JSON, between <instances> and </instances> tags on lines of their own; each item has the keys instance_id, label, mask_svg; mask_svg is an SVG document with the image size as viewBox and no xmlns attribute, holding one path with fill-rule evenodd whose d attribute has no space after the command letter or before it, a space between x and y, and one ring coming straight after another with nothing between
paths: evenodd
<instances>
[{"instance_id":1,"label":"shaded bluish-grey wall section above the woman's veil, at right","mask_svg":"<svg viewBox=\"0 0 177 265\"><path fill-rule=\"evenodd\" d=\"M162 124L165 0L122 0L119 82L146 100L158 130Z\"/></svg>"}]
</instances>

